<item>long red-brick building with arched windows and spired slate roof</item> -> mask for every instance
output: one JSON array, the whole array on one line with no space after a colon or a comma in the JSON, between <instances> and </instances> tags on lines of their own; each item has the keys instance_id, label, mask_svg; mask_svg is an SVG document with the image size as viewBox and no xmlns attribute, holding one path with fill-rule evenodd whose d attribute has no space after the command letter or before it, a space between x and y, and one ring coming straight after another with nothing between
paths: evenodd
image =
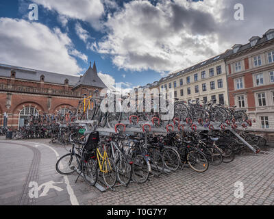
<instances>
[{"instance_id":1,"label":"long red-brick building with arched windows and spired slate roof","mask_svg":"<svg viewBox=\"0 0 274 219\"><path fill-rule=\"evenodd\" d=\"M95 63L79 77L0 64L0 125L5 117L6 125L17 129L30 114L77 107L82 94L103 88Z\"/></svg>"}]
</instances>

